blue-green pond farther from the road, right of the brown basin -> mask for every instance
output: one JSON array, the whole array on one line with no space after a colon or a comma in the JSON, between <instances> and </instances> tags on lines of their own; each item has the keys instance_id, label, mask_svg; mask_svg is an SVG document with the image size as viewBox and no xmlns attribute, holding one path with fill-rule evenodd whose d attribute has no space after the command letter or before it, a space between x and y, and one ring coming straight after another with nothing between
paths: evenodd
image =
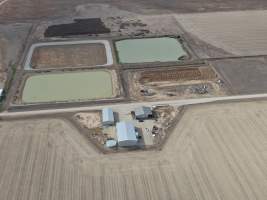
<instances>
[{"instance_id":1,"label":"blue-green pond farther from the road, right of the brown basin","mask_svg":"<svg viewBox=\"0 0 267 200\"><path fill-rule=\"evenodd\" d=\"M187 55L182 44L170 37L126 39L115 45L120 63L171 62Z\"/></svg>"}]
</instances>

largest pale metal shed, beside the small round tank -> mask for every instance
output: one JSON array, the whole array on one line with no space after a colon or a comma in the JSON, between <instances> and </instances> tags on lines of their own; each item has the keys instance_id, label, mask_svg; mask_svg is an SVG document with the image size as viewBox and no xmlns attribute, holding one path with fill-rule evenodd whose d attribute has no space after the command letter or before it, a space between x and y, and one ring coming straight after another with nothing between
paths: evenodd
<instances>
[{"instance_id":1,"label":"largest pale metal shed, beside the small round tank","mask_svg":"<svg viewBox=\"0 0 267 200\"><path fill-rule=\"evenodd\" d=\"M130 147L137 144L136 131L132 123L119 122L116 124L118 145Z\"/></svg>"}]
</instances>

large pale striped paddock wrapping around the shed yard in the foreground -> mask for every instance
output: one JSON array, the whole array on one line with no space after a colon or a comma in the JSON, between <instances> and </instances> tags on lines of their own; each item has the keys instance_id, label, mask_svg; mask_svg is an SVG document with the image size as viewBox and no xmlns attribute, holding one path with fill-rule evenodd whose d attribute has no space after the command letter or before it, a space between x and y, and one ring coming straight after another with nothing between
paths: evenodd
<instances>
[{"instance_id":1,"label":"large pale striped paddock wrapping around the shed yard in the foreground","mask_svg":"<svg viewBox=\"0 0 267 200\"><path fill-rule=\"evenodd\" d=\"M265 200L267 102L189 108L162 151L102 155L66 121L0 122L0 197Z\"/></svg>"}]
</instances>

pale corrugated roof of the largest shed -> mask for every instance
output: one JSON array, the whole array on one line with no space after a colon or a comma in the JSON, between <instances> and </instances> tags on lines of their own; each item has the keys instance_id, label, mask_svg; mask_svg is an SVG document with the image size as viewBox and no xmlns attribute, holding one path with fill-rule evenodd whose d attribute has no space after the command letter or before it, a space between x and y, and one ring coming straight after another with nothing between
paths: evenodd
<instances>
[{"instance_id":1,"label":"pale corrugated roof of the largest shed","mask_svg":"<svg viewBox=\"0 0 267 200\"><path fill-rule=\"evenodd\" d=\"M117 138L120 141L137 141L135 128L132 123L129 122L119 122L116 124Z\"/></svg>"}]
</instances>

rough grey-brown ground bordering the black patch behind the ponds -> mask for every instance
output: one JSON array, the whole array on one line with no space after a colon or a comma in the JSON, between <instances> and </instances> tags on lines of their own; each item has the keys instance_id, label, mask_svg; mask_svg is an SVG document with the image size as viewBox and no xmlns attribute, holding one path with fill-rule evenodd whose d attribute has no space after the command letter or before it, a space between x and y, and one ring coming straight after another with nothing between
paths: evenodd
<instances>
[{"instance_id":1,"label":"rough grey-brown ground bordering the black patch behind the ponds","mask_svg":"<svg viewBox=\"0 0 267 200\"><path fill-rule=\"evenodd\" d=\"M76 18L59 18L42 20L34 32L37 39L43 39L47 28L52 25L69 24L78 18L101 18L110 33L97 31L98 36L142 36L142 35L178 35L181 33L177 21L172 15L139 15L133 12L120 10L106 4L89 4L77 7ZM161 23L158 23L161 21ZM80 36L81 37L81 36Z\"/></svg>"}]
</instances>

